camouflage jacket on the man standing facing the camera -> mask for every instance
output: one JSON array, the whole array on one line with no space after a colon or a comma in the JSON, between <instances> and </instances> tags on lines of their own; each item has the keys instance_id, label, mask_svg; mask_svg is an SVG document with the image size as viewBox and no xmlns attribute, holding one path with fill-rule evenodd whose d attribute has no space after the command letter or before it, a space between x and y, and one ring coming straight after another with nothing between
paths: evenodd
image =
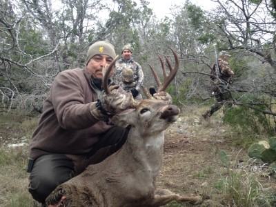
<instances>
[{"instance_id":1,"label":"camouflage jacket on the man standing facing the camera","mask_svg":"<svg viewBox=\"0 0 276 207\"><path fill-rule=\"evenodd\" d=\"M115 63L111 79L126 91L132 88L140 91L144 83L144 73L140 64L132 58L128 61L120 58Z\"/></svg>"}]
</instances>

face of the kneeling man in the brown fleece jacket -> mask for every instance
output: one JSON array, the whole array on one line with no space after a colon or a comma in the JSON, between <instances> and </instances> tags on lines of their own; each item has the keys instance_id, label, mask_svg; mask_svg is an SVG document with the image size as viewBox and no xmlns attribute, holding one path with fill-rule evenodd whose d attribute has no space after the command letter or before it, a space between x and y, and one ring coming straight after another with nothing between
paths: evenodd
<instances>
[{"instance_id":1,"label":"face of the kneeling man in the brown fleece jacket","mask_svg":"<svg viewBox=\"0 0 276 207\"><path fill-rule=\"evenodd\" d=\"M88 71L92 72L93 78L103 79L103 67L108 68L112 60L112 57L109 57L108 55L94 55L88 62L86 68ZM110 72L109 77L111 77L113 70L114 66Z\"/></svg>"}]
</instances>

